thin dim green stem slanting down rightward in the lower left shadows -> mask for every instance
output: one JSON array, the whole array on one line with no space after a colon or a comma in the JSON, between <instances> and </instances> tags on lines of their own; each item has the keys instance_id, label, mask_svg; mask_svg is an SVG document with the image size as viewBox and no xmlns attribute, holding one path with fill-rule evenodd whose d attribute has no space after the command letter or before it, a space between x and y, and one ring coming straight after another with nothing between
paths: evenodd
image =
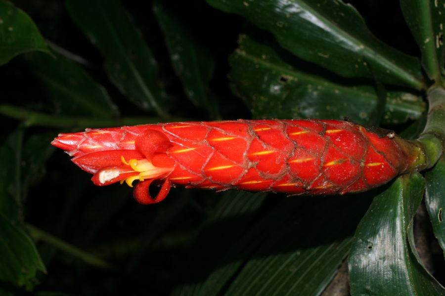
<instances>
[{"instance_id":1,"label":"thin dim green stem slanting down rightward in the lower left shadows","mask_svg":"<svg viewBox=\"0 0 445 296\"><path fill-rule=\"evenodd\" d=\"M67 242L62 241L61 239L33 225L25 224L25 229L35 241L41 240L55 247L56 249L65 252L66 254L81 259L82 261L84 261L89 265L99 268L113 268L113 266L110 263L106 262L105 260L102 260L101 258L88 254L87 252L82 251L79 248L70 245Z\"/></svg>"}]
</instances>

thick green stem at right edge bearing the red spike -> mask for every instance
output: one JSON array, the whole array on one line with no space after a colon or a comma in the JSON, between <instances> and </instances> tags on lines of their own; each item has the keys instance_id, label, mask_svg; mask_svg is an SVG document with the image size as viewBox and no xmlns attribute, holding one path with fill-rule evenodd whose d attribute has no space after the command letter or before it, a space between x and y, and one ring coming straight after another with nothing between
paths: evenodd
<instances>
[{"instance_id":1,"label":"thick green stem at right edge bearing the red spike","mask_svg":"<svg viewBox=\"0 0 445 296\"><path fill-rule=\"evenodd\" d=\"M426 158L425 169L433 167L444 152L445 144L445 89L433 86L428 91L428 118L418 141Z\"/></svg>"}]
</instances>

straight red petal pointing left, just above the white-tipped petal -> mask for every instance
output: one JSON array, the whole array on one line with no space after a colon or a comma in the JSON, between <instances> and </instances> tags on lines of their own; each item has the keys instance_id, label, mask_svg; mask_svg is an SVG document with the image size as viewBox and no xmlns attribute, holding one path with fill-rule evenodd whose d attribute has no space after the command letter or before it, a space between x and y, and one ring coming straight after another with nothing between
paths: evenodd
<instances>
[{"instance_id":1,"label":"straight red petal pointing left, just above the white-tipped petal","mask_svg":"<svg viewBox=\"0 0 445 296\"><path fill-rule=\"evenodd\" d=\"M136 150L107 150L76 156L72 161L81 169L90 173L96 173L99 169L122 166L122 156L126 161L144 158Z\"/></svg>"}]
</instances>

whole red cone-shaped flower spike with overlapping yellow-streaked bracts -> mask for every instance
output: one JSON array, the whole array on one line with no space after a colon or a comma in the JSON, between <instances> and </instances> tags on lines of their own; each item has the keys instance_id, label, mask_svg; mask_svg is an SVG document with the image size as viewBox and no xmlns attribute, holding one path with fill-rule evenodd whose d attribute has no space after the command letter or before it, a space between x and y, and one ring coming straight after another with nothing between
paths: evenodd
<instances>
[{"instance_id":1,"label":"whole red cone-shaped flower spike with overlapping yellow-streaked bracts","mask_svg":"<svg viewBox=\"0 0 445 296\"><path fill-rule=\"evenodd\" d=\"M94 174L120 181L142 204L163 200L171 183L190 188L344 194L382 185L406 170L415 149L394 134L334 120L182 122L87 129L52 145ZM407 148L408 147L408 148ZM148 187L163 181L151 198Z\"/></svg>"}]
</instances>

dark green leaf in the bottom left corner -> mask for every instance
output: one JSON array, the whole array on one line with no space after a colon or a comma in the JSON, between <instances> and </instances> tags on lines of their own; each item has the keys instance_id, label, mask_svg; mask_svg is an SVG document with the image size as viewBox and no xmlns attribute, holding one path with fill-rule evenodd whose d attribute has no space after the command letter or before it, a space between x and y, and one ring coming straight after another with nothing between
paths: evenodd
<instances>
[{"instance_id":1,"label":"dark green leaf in the bottom left corner","mask_svg":"<svg viewBox=\"0 0 445 296\"><path fill-rule=\"evenodd\" d=\"M0 280L31 289L45 266L31 239L0 213Z\"/></svg>"}]
</instances>

